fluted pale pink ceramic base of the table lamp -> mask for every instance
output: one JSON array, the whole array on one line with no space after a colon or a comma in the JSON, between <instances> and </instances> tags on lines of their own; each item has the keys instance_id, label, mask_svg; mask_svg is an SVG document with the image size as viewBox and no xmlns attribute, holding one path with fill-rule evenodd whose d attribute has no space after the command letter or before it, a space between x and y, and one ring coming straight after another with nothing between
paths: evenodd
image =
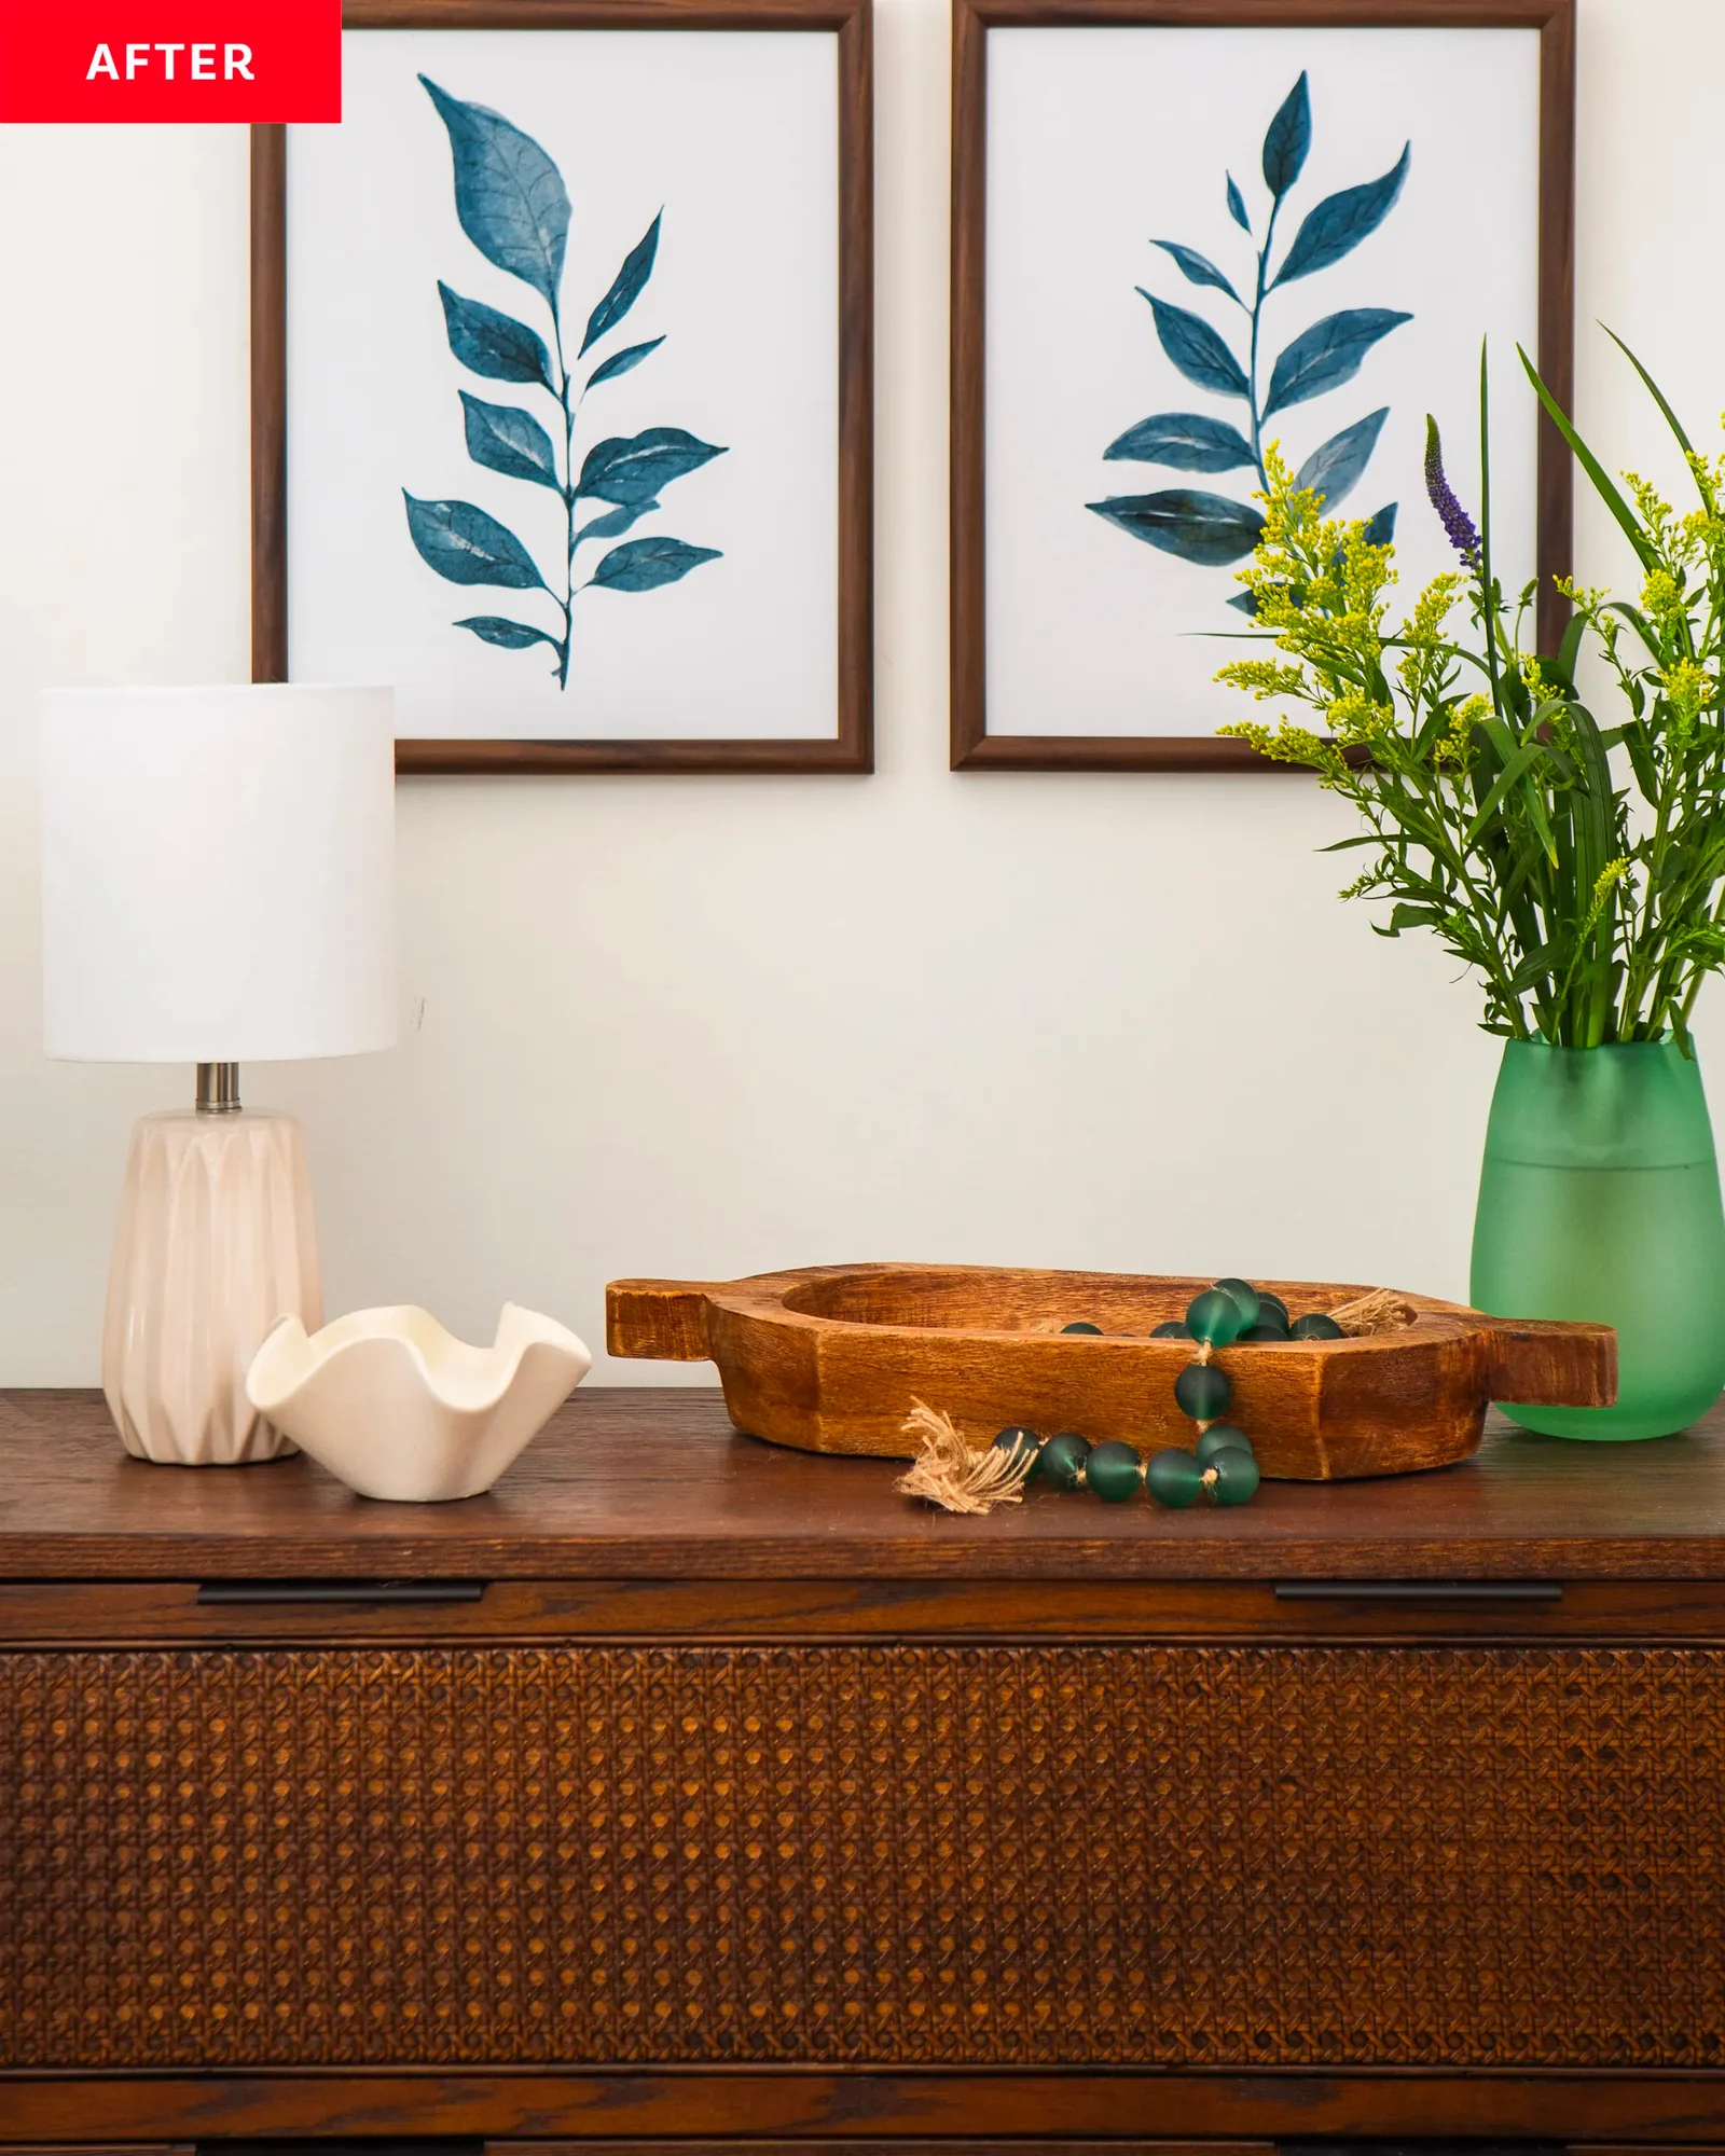
<instances>
[{"instance_id":1,"label":"fluted pale pink ceramic base of the table lamp","mask_svg":"<svg viewBox=\"0 0 1725 2156\"><path fill-rule=\"evenodd\" d=\"M125 1449L175 1466L291 1453L246 1399L252 1354L287 1315L323 1324L298 1121L140 1117L101 1330L101 1391Z\"/></svg>"}]
</instances>

